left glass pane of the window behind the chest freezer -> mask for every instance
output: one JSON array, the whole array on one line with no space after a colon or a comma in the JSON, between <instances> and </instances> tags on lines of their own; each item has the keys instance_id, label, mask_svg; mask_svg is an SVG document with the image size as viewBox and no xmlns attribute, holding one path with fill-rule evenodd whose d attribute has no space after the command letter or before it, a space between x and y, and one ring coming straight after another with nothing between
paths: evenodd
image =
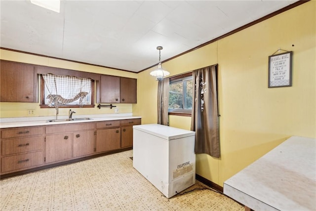
<instances>
[{"instance_id":1,"label":"left glass pane of the window behind the chest freezer","mask_svg":"<svg viewBox=\"0 0 316 211\"><path fill-rule=\"evenodd\" d=\"M169 86L169 108L183 109L182 81L171 83Z\"/></svg>"}]
</instances>

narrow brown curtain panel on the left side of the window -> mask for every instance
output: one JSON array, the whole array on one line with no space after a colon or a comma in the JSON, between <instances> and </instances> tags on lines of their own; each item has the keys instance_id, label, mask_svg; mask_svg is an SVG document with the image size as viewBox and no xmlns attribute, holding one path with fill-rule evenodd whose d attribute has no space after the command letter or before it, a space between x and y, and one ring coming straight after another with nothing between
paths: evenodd
<instances>
[{"instance_id":1,"label":"narrow brown curtain panel on the left side of the window","mask_svg":"<svg viewBox=\"0 0 316 211\"><path fill-rule=\"evenodd\" d=\"M158 81L157 124L169 126L169 78Z\"/></svg>"}]
</instances>

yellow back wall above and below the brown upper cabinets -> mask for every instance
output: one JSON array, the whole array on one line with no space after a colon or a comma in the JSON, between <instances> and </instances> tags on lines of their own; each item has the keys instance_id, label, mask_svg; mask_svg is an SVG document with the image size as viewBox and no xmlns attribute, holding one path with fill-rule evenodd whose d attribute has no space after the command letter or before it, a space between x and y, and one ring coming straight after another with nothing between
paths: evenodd
<instances>
[{"instance_id":1,"label":"yellow back wall above and below the brown upper cabinets","mask_svg":"<svg viewBox=\"0 0 316 211\"><path fill-rule=\"evenodd\" d=\"M61 59L53 59L43 56L36 56L31 54L19 53L9 50L0 49L0 59L16 61L16 62L24 62L30 64L37 64L43 66L78 70L84 72L91 73L99 73L113 76L121 76L128 78L137 78L136 73L130 73L126 71L119 71L110 68L97 67L93 65L80 64L76 62L65 61ZM40 96L40 95L39 95ZM40 97L39 97L40 99ZM8 118L8 117L36 117L36 116L55 116L56 110L55 108L45 108L40 109L40 103L4 103L0 102L0 118ZM132 113L132 104L113 104L118 108L118 113ZM28 116L27 110L34 110L34 116ZM110 108L76 108L73 109L76 111L76 115L85 115L85 114L112 114L114 113L114 109ZM59 116L68 115L69 109L60 108Z\"/></svg>"}]
</instances>

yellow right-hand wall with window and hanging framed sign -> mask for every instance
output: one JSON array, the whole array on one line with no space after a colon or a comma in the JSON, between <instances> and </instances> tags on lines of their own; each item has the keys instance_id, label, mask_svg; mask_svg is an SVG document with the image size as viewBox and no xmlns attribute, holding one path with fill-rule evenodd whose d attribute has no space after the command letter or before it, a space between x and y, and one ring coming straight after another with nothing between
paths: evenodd
<instances>
[{"instance_id":1,"label":"yellow right-hand wall with window and hanging framed sign","mask_svg":"<svg viewBox=\"0 0 316 211\"><path fill-rule=\"evenodd\" d=\"M197 174L223 186L288 137L316 138L315 13L316 1L309 1L163 63L171 76L219 65L221 158L197 155ZM279 48L293 51L292 86L268 88L268 57ZM157 122L157 82L150 71L138 76L133 107L143 124ZM190 129L191 118L169 116L169 122Z\"/></svg>"}]
</instances>

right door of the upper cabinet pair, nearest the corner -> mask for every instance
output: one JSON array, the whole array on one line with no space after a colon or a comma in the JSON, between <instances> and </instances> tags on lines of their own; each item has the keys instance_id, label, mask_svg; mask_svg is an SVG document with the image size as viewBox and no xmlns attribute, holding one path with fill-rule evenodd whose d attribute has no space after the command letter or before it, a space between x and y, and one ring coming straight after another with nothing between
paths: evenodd
<instances>
[{"instance_id":1,"label":"right door of the upper cabinet pair, nearest the corner","mask_svg":"<svg viewBox=\"0 0 316 211\"><path fill-rule=\"evenodd\" d=\"M120 103L137 103L137 80L120 78Z\"/></svg>"}]
</instances>

